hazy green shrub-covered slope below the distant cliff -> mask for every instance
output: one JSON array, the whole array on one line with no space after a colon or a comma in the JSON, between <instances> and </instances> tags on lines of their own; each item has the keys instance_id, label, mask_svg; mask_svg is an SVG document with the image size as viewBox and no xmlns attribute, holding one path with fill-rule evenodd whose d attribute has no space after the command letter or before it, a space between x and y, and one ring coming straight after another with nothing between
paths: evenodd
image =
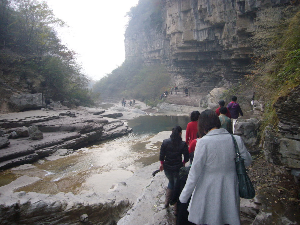
<instances>
[{"instance_id":1,"label":"hazy green shrub-covered slope below the distant cliff","mask_svg":"<svg viewBox=\"0 0 300 225\"><path fill-rule=\"evenodd\" d=\"M155 100L166 90L170 75L163 65L143 65L141 60L125 60L121 66L98 81L93 88L102 98L136 98Z\"/></svg>"}]
</instances>

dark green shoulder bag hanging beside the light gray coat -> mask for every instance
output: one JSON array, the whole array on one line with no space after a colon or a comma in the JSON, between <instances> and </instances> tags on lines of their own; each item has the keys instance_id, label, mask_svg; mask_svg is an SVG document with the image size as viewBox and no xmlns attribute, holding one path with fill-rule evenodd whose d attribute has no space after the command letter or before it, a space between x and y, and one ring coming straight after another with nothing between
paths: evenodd
<instances>
[{"instance_id":1,"label":"dark green shoulder bag hanging beside the light gray coat","mask_svg":"<svg viewBox=\"0 0 300 225\"><path fill-rule=\"evenodd\" d=\"M241 198L252 199L255 197L255 190L252 182L247 174L246 167L244 165L244 158L241 158L240 152L238 151L238 144L235 138L231 134L234 149L235 149L235 169L238 174L238 191Z\"/></svg>"}]
</instances>

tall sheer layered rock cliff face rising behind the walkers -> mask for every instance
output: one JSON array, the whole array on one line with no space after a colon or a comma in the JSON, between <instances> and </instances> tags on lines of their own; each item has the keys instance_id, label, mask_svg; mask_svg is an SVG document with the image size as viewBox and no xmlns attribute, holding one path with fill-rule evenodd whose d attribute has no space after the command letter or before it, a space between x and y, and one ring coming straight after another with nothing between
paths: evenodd
<instances>
[{"instance_id":1,"label":"tall sheer layered rock cliff face rising behind the walkers","mask_svg":"<svg viewBox=\"0 0 300 225\"><path fill-rule=\"evenodd\" d=\"M140 5L146 2L140 1ZM190 91L210 91L247 73L248 38L264 7L289 0L159 0L148 17L134 14L125 33L126 59L168 66L173 82ZM139 5L137 6L138 9ZM142 7L142 6L140 6ZM149 6L148 6L149 8Z\"/></svg>"}]
</instances>

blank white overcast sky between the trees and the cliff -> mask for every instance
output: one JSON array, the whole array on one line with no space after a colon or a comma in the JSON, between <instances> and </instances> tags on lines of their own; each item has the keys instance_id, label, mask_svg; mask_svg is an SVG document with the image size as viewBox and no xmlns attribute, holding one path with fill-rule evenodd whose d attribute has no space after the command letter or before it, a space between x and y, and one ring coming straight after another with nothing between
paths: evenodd
<instances>
[{"instance_id":1,"label":"blank white overcast sky between the trees and the cliff","mask_svg":"<svg viewBox=\"0 0 300 225\"><path fill-rule=\"evenodd\" d=\"M63 44L77 52L84 73L95 80L125 60L126 12L138 0L46 0L53 13L69 26L59 29Z\"/></svg>"}]
</instances>

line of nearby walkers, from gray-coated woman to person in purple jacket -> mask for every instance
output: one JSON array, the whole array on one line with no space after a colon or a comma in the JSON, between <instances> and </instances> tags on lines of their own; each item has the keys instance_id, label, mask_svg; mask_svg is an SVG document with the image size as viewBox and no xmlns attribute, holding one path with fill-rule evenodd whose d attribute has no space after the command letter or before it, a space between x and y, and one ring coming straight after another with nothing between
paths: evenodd
<instances>
[{"instance_id":1,"label":"line of nearby walkers, from gray-coated woman to person in purple jacket","mask_svg":"<svg viewBox=\"0 0 300 225\"><path fill-rule=\"evenodd\" d=\"M245 166L251 164L251 156L241 137L231 136L232 130L226 129L231 119L243 115L236 100L233 96L227 107L220 100L216 111L193 111L185 142L180 126L174 126L170 138L163 140L159 169L169 180L164 208L174 205L177 225L240 225L232 137ZM188 161L190 165L185 167Z\"/></svg>"}]
</instances>

